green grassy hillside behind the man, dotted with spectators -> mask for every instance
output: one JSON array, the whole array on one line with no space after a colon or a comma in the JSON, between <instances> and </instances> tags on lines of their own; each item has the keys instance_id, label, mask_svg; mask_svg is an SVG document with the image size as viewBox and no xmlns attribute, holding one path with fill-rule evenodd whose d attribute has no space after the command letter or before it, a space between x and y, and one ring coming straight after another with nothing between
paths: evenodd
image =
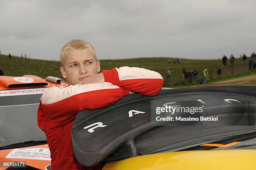
<instances>
[{"instance_id":1,"label":"green grassy hillside behind the man, dotted with spectators","mask_svg":"<svg viewBox=\"0 0 256 170\"><path fill-rule=\"evenodd\" d=\"M172 63L169 65L169 59ZM240 76L246 76L256 74L256 71L248 71L247 66L243 66L242 58L236 58L234 63L234 76L231 75L230 60L227 61L227 66L222 66L220 59L215 60L192 60L181 59L181 64L174 64L173 60L176 58L133 58L122 60L100 60L101 69L113 69L115 67L130 66L130 67L142 67L159 72L164 79L166 79L167 69L172 70L171 81L167 83L165 81L165 87L183 87L194 86L200 84L200 81L204 79L203 70L205 67L209 71L209 81L223 81L226 79L236 78ZM248 59L247 59L248 61ZM220 77L217 75L217 67L222 67L222 74ZM0 55L0 67L5 71L6 76L23 76L25 74L33 74L40 77L57 76L61 77L59 67L59 61L46 61L29 58L21 58L12 56L11 59L8 56ZM198 81L192 83L185 81L182 77L182 69L187 71L193 71L197 69L199 71Z\"/></svg>"}]
</instances>

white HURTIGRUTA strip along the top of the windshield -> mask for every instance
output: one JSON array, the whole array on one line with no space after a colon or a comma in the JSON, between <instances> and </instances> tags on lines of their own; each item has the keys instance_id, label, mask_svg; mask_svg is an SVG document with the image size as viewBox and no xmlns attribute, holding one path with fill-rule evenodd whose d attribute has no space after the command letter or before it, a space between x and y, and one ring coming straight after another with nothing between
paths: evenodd
<instances>
[{"instance_id":1,"label":"white HURTIGRUTA strip along the top of the windshield","mask_svg":"<svg viewBox=\"0 0 256 170\"><path fill-rule=\"evenodd\" d=\"M0 90L0 96L18 96L26 94L43 94L47 88Z\"/></svg>"}]
</instances>

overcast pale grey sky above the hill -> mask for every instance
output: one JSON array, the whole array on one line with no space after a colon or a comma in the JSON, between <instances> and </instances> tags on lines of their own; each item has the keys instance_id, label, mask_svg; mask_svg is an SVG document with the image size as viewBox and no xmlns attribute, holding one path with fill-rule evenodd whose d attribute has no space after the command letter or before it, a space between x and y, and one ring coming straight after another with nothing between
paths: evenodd
<instances>
[{"instance_id":1,"label":"overcast pale grey sky above the hill","mask_svg":"<svg viewBox=\"0 0 256 170\"><path fill-rule=\"evenodd\" d=\"M210 59L256 52L256 0L1 0L0 50L59 60L67 41L98 59Z\"/></svg>"}]
</instances>

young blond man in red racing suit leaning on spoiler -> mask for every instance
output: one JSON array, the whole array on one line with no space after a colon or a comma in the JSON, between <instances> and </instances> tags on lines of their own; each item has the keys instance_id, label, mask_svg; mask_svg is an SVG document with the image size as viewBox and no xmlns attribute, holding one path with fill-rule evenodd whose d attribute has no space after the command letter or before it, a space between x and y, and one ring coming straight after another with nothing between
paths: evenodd
<instances>
[{"instance_id":1,"label":"young blond man in red racing suit leaning on spoiler","mask_svg":"<svg viewBox=\"0 0 256 170\"><path fill-rule=\"evenodd\" d=\"M155 71L120 67L100 72L93 46L86 41L69 41L60 53L60 71L67 86L51 86L41 97L38 127L46 134L51 151L51 170L90 169L74 157L71 129L77 112L108 106L139 93L154 96L163 86L163 78Z\"/></svg>"}]
</instances>

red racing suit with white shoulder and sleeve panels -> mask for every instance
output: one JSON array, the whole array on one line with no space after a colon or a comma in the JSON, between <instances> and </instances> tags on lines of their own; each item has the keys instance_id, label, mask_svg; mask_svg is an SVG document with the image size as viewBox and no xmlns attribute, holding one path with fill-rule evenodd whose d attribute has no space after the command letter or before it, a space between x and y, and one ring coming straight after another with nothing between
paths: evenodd
<instances>
[{"instance_id":1,"label":"red racing suit with white shoulder and sleeve panels","mask_svg":"<svg viewBox=\"0 0 256 170\"><path fill-rule=\"evenodd\" d=\"M77 112L108 106L129 92L154 96L163 86L162 76L147 69L120 67L103 70L104 83L51 86L41 97L38 127L47 138L51 170L86 169L74 157L71 129Z\"/></svg>"}]
</instances>

